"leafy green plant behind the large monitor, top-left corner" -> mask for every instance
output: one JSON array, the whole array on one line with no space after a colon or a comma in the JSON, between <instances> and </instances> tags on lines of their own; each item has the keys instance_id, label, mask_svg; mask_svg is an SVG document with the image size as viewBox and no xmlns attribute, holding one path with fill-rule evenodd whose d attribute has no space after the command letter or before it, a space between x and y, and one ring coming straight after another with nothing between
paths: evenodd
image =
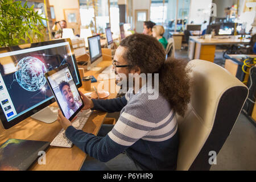
<instances>
[{"instance_id":1,"label":"leafy green plant behind the large monitor, top-left corner","mask_svg":"<svg viewBox=\"0 0 256 182\"><path fill-rule=\"evenodd\" d=\"M34 6L21 1L0 0L0 47L42 42L46 36L43 18Z\"/></svg>"}]
</instances>

